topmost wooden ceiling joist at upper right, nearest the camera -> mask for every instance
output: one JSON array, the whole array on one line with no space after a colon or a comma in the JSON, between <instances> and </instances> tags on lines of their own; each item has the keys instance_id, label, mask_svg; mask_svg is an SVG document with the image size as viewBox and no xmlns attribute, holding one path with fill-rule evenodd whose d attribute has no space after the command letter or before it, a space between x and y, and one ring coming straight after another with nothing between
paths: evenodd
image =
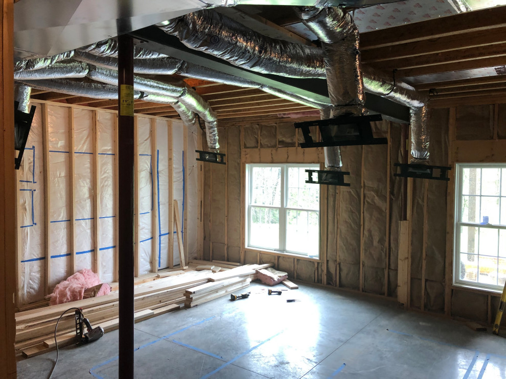
<instances>
[{"instance_id":1,"label":"topmost wooden ceiling joist at upper right, nearest the camera","mask_svg":"<svg viewBox=\"0 0 506 379\"><path fill-rule=\"evenodd\" d=\"M494 29L504 27L506 27L506 6L494 7L361 33L360 49L364 51L484 30L493 33Z\"/></svg>"}]
</instances>

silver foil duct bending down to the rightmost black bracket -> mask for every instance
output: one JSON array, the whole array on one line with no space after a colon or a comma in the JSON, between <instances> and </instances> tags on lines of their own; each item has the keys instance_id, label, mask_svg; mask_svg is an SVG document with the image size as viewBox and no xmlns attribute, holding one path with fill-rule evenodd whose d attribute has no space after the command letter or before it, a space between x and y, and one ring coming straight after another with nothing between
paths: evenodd
<instances>
[{"instance_id":1,"label":"silver foil duct bending down to the rightmost black bracket","mask_svg":"<svg viewBox=\"0 0 506 379\"><path fill-rule=\"evenodd\" d=\"M364 68L364 85L371 93L410 107L411 163L423 163L429 159L430 138L427 125L428 98L409 84L394 80L370 67Z\"/></svg>"}]
</instances>

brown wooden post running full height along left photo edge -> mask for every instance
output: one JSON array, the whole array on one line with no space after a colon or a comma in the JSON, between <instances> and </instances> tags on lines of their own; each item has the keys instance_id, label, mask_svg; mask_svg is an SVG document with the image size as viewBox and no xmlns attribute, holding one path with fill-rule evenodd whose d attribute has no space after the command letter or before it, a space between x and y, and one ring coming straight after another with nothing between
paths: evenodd
<instances>
[{"instance_id":1,"label":"brown wooden post running full height along left photo edge","mask_svg":"<svg viewBox=\"0 0 506 379\"><path fill-rule=\"evenodd\" d=\"M14 171L14 87L12 0L2 0L2 57L0 75L0 377L16 377L14 357L14 293L16 290L16 175ZM14 219L14 220L13 220Z\"/></svg>"}]
</instances>

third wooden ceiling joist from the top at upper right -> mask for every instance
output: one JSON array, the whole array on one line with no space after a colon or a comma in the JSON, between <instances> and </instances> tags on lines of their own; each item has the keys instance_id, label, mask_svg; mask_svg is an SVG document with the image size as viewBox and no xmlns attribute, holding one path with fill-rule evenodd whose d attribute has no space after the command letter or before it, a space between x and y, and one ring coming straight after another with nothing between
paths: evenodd
<instances>
[{"instance_id":1,"label":"third wooden ceiling joist from the top at upper right","mask_svg":"<svg viewBox=\"0 0 506 379\"><path fill-rule=\"evenodd\" d=\"M408 69L504 56L506 56L506 44L496 43L487 46L479 46L478 48L473 49L465 48L454 50L450 53L443 52L408 58L384 60L374 63L374 66L382 70L391 69L392 67L397 69Z\"/></svg>"}]
</instances>

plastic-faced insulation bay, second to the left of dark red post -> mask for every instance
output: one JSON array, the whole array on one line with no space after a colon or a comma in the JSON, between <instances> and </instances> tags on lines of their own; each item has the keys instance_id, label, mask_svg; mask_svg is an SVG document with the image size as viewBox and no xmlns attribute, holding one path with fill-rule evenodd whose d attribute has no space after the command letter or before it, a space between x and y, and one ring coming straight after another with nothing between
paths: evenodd
<instances>
[{"instance_id":1,"label":"plastic-faced insulation bay, second to the left of dark red post","mask_svg":"<svg viewBox=\"0 0 506 379\"><path fill-rule=\"evenodd\" d=\"M76 271L91 267L93 235L93 112L74 109L74 250Z\"/></svg>"}]
</instances>

